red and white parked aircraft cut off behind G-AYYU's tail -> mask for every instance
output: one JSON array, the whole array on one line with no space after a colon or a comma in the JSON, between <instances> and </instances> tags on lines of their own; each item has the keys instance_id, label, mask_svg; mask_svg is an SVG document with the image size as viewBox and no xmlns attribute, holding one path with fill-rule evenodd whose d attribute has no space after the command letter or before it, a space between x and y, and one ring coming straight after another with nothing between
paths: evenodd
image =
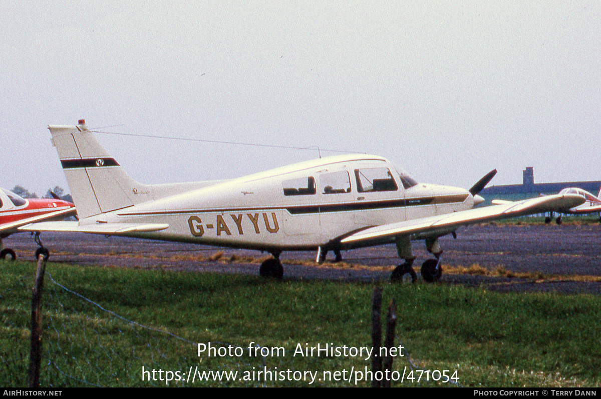
<instances>
[{"instance_id":1,"label":"red and white parked aircraft cut off behind G-AYYU's tail","mask_svg":"<svg viewBox=\"0 0 601 399\"><path fill-rule=\"evenodd\" d=\"M13 249L4 248L2 239L19 233L19 227L75 215L75 205L60 198L22 198L14 192L0 188L0 259L17 258ZM47 259L50 252L41 245L39 233L35 234L35 242L39 245L35 251L35 258L43 254Z\"/></svg>"}]
</instances>

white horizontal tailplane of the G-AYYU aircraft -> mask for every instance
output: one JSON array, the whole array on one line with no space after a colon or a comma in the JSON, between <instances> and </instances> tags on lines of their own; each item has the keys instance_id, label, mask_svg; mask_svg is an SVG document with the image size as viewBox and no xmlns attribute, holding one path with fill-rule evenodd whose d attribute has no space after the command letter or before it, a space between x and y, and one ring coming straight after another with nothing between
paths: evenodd
<instances>
[{"instance_id":1,"label":"white horizontal tailplane of the G-AYYU aircraft","mask_svg":"<svg viewBox=\"0 0 601 399\"><path fill-rule=\"evenodd\" d=\"M23 231L70 231L74 233L91 233L119 235L126 233L147 233L149 231L165 230L165 223L96 223L79 225L79 222L40 222L20 227Z\"/></svg>"}]
</instances>

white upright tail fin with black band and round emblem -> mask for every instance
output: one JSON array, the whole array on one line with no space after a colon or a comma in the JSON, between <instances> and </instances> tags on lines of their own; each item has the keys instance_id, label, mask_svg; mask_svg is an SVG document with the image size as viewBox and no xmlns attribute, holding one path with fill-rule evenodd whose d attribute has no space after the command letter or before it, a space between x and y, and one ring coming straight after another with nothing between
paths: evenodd
<instances>
[{"instance_id":1,"label":"white upright tail fin with black band and round emblem","mask_svg":"<svg viewBox=\"0 0 601 399\"><path fill-rule=\"evenodd\" d=\"M152 199L150 186L129 177L80 120L49 126L80 219Z\"/></svg>"}]
</instances>

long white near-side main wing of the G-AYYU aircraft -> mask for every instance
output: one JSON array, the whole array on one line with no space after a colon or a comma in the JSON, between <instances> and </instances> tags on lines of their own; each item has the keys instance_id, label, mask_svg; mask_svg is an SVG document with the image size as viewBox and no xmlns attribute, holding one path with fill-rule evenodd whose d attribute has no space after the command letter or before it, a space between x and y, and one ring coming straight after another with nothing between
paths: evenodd
<instances>
[{"instance_id":1,"label":"long white near-side main wing of the G-AYYU aircraft","mask_svg":"<svg viewBox=\"0 0 601 399\"><path fill-rule=\"evenodd\" d=\"M570 209L584 203L584 197L578 194L555 194L529 200L502 203L498 205L430 216L429 218L391 223L366 228L340 240L341 244L361 245L362 243L385 242L397 236L417 236L418 234L444 235L458 227L551 212L557 209Z\"/></svg>"}]
</instances>

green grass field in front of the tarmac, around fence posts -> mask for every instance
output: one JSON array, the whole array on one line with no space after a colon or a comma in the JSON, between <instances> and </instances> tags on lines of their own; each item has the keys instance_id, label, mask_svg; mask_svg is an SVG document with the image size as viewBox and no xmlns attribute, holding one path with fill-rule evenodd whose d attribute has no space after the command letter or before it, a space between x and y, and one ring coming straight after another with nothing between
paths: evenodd
<instances>
[{"instance_id":1,"label":"green grass field in front of the tarmac, around fence posts","mask_svg":"<svg viewBox=\"0 0 601 399\"><path fill-rule=\"evenodd\" d=\"M25 386L35 264L0 267L0 385ZM167 371L168 386L370 385L357 373L371 368L365 356L294 352L299 344L370 347L373 284L55 263L46 270L42 386L166 386ZM457 386L435 370L470 387L601 383L599 297L381 286L383 303L394 298L398 306L395 345L404 356L395 358L394 370L409 377L392 386ZM225 356L198 356L197 343L212 343ZM249 356L251 343L285 352ZM228 344L234 353L225 353ZM229 381L214 374L175 380L176 371L187 378L189 370L238 374ZM272 371L270 379L257 380L264 370Z\"/></svg>"}]
</instances>

